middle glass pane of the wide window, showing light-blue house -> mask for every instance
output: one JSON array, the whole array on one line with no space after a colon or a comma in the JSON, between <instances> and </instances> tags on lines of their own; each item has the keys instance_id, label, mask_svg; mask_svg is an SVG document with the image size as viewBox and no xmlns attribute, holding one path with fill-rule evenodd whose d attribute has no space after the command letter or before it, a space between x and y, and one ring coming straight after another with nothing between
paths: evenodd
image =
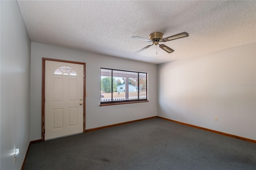
<instances>
[{"instance_id":1,"label":"middle glass pane of the wide window, showing light-blue house","mask_svg":"<svg viewBox=\"0 0 256 170\"><path fill-rule=\"evenodd\" d=\"M125 71L113 70L113 101L125 100Z\"/></svg>"}]
</instances>

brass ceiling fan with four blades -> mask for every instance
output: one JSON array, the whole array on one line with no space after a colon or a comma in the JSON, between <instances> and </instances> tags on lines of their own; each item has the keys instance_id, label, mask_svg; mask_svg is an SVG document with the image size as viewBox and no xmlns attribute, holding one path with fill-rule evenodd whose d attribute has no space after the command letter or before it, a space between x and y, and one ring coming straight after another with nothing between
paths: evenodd
<instances>
[{"instance_id":1,"label":"brass ceiling fan with four blades","mask_svg":"<svg viewBox=\"0 0 256 170\"><path fill-rule=\"evenodd\" d=\"M182 32L180 34L176 34L174 36L170 36L170 37L166 37L166 38L163 38L163 34L161 32L153 32L152 34L149 35L149 39L138 37L138 36L133 36L132 38L136 38L138 40L142 40L142 41L146 41L146 42L152 42L152 45L159 45L159 47L162 48L164 51L166 51L168 53L172 53L174 51L173 49L171 49L170 47L168 47L164 44L159 44L159 42L168 42L171 40L177 40L179 38L184 38L184 37L188 37L187 32ZM148 47L151 47L152 45L148 45L148 46L136 51L135 53L139 53L140 51L143 51L144 49L147 49Z\"/></svg>"}]
</instances>

